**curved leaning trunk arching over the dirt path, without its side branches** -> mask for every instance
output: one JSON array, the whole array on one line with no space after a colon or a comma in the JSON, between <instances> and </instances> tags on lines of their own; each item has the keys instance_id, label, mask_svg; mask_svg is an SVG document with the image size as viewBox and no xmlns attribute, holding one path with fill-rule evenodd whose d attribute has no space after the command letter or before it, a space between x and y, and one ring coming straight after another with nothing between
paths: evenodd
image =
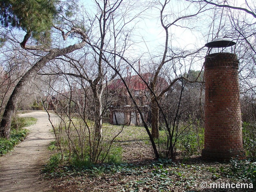
<instances>
[{"instance_id":1,"label":"curved leaning trunk arching over the dirt path, without its side branches","mask_svg":"<svg viewBox=\"0 0 256 192\"><path fill-rule=\"evenodd\" d=\"M0 124L0 137L3 138L10 138L10 129L11 129L11 121L12 121L12 115L16 109L16 105L18 102L18 98L20 96L20 93L23 89L23 87L34 77L36 76L37 72L45 66L45 64L47 62L49 62L50 60L64 55L64 54L68 54L70 52L73 52L75 50L81 49L86 43L82 42L79 44L74 44L74 45L70 45L66 48L63 49L56 49L56 50L52 50L52 52L48 53L47 55L45 55L44 57L42 57L40 60L38 60L36 62L36 64L30 68L25 74L24 76L22 76L22 78L20 79L20 81L18 82L18 84L15 86L6 106L4 109L4 114L1 120L1 124Z\"/></svg>"}]
</instances>

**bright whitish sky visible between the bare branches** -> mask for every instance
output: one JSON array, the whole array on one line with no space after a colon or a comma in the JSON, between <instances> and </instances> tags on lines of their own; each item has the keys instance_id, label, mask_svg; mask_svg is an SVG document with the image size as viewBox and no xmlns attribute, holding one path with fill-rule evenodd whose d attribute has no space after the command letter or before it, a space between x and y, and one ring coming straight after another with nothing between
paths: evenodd
<instances>
[{"instance_id":1,"label":"bright whitish sky visible between the bare branches","mask_svg":"<svg viewBox=\"0 0 256 192\"><path fill-rule=\"evenodd\" d=\"M163 2L163 0L159 0ZM215 0L213 0L214 2ZM221 0L218 0L219 2ZM247 8L245 4L245 0L226 0L229 1L229 4L232 6L237 7L244 7ZM248 2L250 0L247 0ZM135 4L131 5L139 5L137 8L133 8L130 11L130 16L137 14L141 10L144 10L148 7L148 9L140 15L140 18L132 21L127 25L127 28L133 28L131 36L131 42L134 42L132 46L128 49L128 54L125 55L126 58L134 58L139 60L141 65L145 68L154 68L156 70L157 65L159 65L160 60L162 58L164 52L164 43L165 43L165 31L161 26L160 23L160 9L161 6L158 4L153 4L153 0L124 0L124 2L135 2ZM156 0L158 2L158 0ZM217 2L217 0L216 0ZM252 3L254 0L252 0ZM89 14L93 17L95 16L96 9L95 2L91 0L83 0L82 3L84 4L84 8L89 12ZM187 8L190 5L189 9ZM120 12L124 13L125 9L128 8L124 7L123 10ZM209 6L212 7L212 6ZM198 4L189 4L186 0L170 0L170 4L165 9L164 15L166 16L166 23L172 23L175 19L182 17L184 15L190 15L196 13L198 10ZM229 20L229 16L222 14L222 9L218 10L209 10L204 12L200 15L200 17L193 17L193 19L182 19L182 22L176 23L177 25L173 25L169 29L169 45L170 53L167 53L167 56L170 56L172 51L178 52L177 50L196 50L198 48L204 47L204 45L214 38L223 37L225 34L225 30L230 27L230 23L232 22ZM232 10L234 11L234 10ZM232 12L231 11L231 12ZM232 12L232 14L235 14ZM243 20L245 17L250 15L246 14L243 11L240 11L240 17L237 17L238 20ZM220 22L221 18L221 22ZM128 17L124 18L126 21L129 19ZM255 20L253 18L252 20ZM97 23L95 23L97 26ZM182 27L181 27L182 26ZM217 34L218 29L221 28L221 32ZM99 35L98 29L95 27L94 35ZM98 33L98 34L97 34ZM233 40L233 39L229 39ZM221 49L220 49L221 50ZM213 49L213 52L219 52L219 49ZM234 49L233 49L234 50ZM180 63L175 61L176 63L169 62L165 64L165 68L162 69L163 74L167 74L170 70L172 71L169 74L170 79L173 78L173 71L174 69L171 68L175 65L177 70L180 70L178 75L184 74L188 72L189 69L193 69L196 71L200 71L203 67L204 57L208 54L208 48L204 48L200 55L197 55L195 58L189 58L187 60L183 60ZM224 50L225 52L232 52L232 48L228 48ZM180 53L179 53L180 54ZM176 56L176 55L175 55ZM155 63L155 64L154 64ZM134 66L138 69L138 65ZM142 67L142 68L143 68ZM179 69L179 67L181 69ZM191 68L190 68L191 67ZM128 69L128 70L131 70ZM175 69L176 70L176 69ZM124 74L128 74L125 71L124 67Z\"/></svg>"}]
</instances>

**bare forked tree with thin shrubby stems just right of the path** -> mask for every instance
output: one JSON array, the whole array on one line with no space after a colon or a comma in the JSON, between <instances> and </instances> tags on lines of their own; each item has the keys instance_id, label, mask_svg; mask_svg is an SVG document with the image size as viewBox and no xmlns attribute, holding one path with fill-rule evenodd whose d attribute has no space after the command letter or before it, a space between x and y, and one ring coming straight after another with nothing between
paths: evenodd
<instances>
[{"instance_id":1,"label":"bare forked tree with thin shrubby stems just right of the path","mask_svg":"<svg viewBox=\"0 0 256 192\"><path fill-rule=\"evenodd\" d=\"M96 10L92 9L92 13L83 10L83 18L88 20L78 21L82 25L89 23L88 38L85 40L87 46L78 53L65 55L59 60L48 63L40 72L40 75L58 76L65 82L62 87L66 90L54 90L56 97L51 96L60 106L54 108L57 114L62 114L69 119L70 123L66 129L69 146L73 145L70 126L76 129L72 116L79 116L83 120L88 136L85 136L85 132L82 134L83 137L79 136L78 131L77 134L81 141L84 137L88 139L92 163L102 161L100 159L102 145L106 144L103 142L102 119L109 105L108 84L117 75L116 71L110 70L108 63L111 63L117 71L123 68L122 59L111 53L123 55L129 48L130 28L133 28L129 27L129 23L140 14L132 15L135 6L122 0L95 1L95 6ZM83 99L77 100L77 98ZM57 108L61 110L58 111ZM63 116L61 119L64 122ZM93 123L88 123L89 120ZM110 146L112 142L113 140L110 141ZM77 152L76 155L78 156Z\"/></svg>"}]
</instances>

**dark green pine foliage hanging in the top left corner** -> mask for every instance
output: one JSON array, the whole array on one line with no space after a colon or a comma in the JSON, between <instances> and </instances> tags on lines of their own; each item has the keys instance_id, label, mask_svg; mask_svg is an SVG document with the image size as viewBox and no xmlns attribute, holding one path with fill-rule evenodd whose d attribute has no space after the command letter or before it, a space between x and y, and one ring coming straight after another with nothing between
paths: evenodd
<instances>
[{"instance_id":1,"label":"dark green pine foliage hanging in the top left corner","mask_svg":"<svg viewBox=\"0 0 256 192\"><path fill-rule=\"evenodd\" d=\"M21 28L27 35L21 43L25 47L28 38L39 40L52 27L58 10L54 0L1 0L0 23L6 28ZM4 38L2 37L2 40Z\"/></svg>"}]
</instances>

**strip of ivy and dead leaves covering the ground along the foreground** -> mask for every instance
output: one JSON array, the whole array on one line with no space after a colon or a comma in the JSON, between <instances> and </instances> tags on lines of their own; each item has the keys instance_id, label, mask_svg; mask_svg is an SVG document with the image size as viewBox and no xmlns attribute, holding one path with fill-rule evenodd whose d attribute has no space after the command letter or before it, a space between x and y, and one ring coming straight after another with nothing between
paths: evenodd
<instances>
[{"instance_id":1,"label":"strip of ivy and dead leaves covering the ground along the foreground","mask_svg":"<svg viewBox=\"0 0 256 192\"><path fill-rule=\"evenodd\" d=\"M237 169L235 167L237 166ZM234 168L234 169L233 169ZM234 160L223 164L182 164L158 159L148 164L97 164L84 168L62 166L45 173L46 178L76 178L79 189L87 191L89 182L99 191L201 191L200 183L253 183L255 164ZM254 174L254 177L252 176ZM249 176L250 175L250 176ZM105 183L105 184L103 184ZM253 191L253 189L246 189ZM244 191L244 190L241 190Z\"/></svg>"}]
</instances>

